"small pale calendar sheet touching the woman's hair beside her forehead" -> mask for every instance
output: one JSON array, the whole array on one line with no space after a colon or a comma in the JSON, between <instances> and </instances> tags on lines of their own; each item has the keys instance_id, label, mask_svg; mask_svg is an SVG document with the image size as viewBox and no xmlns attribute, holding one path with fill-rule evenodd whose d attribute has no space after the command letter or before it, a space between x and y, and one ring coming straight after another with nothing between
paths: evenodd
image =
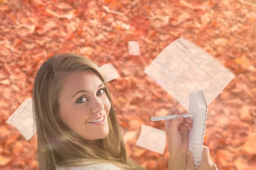
<instances>
[{"instance_id":1,"label":"small pale calendar sheet touching the woman's hair beside her forehead","mask_svg":"<svg viewBox=\"0 0 256 170\"><path fill-rule=\"evenodd\" d=\"M105 65L102 65L100 67L100 69L102 71L102 74L103 74L106 82L109 82L109 81L111 81L113 79L116 79L117 77L120 76L111 63L107 63Z\"/></svg>"}]
</instances>

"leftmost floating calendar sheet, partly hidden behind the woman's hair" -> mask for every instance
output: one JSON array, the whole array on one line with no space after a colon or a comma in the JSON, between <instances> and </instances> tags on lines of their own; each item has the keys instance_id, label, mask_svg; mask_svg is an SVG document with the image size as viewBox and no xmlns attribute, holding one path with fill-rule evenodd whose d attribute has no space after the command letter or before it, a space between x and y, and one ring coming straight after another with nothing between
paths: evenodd
<instances>
[{"instance_id":1,"label":"leftmost floating calendar sheet, partly hidden behind the woman's hair","mask_svg":"<svg viewBox=\"0 0 256 170\"><path fill-rule=\"evenodd\" d=\"M26 141L28 141L36 133L32 113L32 99L27 98L9 117L6 123L16 127Z\"/></svg>"}]
</instances>

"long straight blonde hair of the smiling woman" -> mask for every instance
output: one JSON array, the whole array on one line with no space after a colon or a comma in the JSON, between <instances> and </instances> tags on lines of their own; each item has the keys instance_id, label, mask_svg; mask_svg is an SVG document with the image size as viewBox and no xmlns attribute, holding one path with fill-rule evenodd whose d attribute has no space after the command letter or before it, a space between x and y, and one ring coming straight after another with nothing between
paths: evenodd
<instances>
[{"instance_id":1,"label":"long straight blonde hair of the smiling woman","mask_svg":"<svg viewBox=\"0 0 256 170\"><path fill-rule=\"evenodd\" d=\"M106 86L111 102L109 134L96 140L91 147L87 140L70 130L61 122L58 94L68 74L74 71L94 71ZM57 54L41 65L35 77L32 94L32 109L38 138L38 167L40 170L55 170L55 167L70 167L112 163L122 170L145 170L126 156L125 144L113 109L111 96L99 67L77 54Z\"/></svg>"}]
</instances>

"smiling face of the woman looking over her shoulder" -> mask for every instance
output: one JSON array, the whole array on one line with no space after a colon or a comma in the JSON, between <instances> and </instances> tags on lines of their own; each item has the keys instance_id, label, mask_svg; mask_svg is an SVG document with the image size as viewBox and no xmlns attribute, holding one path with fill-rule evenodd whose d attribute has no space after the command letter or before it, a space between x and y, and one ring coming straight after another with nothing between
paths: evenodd
<instances>
[{"instance_id":1,"label":"smiling face of the woman looking over her shoulder","mask_svg":"<svg viewBox=\"0 0 256 170\"><path fill-rule=\"evenodd\" d=\"M73 132L87 140L103 139L108 135L111 103L105 85L93 71L69 74L59 95L60 119ZM79 91L83 91L77 93ZM92 122L103 118L102 122Z\"/></svg>"}]
</instances>

